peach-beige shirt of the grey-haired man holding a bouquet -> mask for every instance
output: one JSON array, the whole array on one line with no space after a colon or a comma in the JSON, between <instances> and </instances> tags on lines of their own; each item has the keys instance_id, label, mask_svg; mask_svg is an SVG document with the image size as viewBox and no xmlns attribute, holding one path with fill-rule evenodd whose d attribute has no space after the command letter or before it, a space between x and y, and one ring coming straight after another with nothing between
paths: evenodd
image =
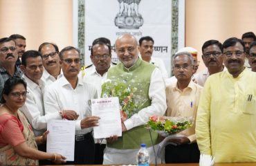
<instances>
[{"instance_id":1,"label":"peach-beige shirt of the grey-haired man holding a bouquet","mask_svg":"<svg viewBox=\"0 0 256 166\"><path fill-rule=\"evenodd\" d=\"M199 98L203 88L198 84L195 84L192 80L188 87L179 90L177 84L172 84L166 87L166 104L167 104L167 116L175 117L193 117L196 119L196 110L199 104ZM185 131L181 131L181 135L187 136L190 142L196 141L195 124Z\"/></svg>"}]
</instances>

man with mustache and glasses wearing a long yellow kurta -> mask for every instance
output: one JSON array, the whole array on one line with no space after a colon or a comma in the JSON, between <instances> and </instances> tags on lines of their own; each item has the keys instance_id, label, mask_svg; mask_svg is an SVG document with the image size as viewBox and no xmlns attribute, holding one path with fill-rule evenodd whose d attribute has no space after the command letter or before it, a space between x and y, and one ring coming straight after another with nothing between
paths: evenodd
<instances>
[{"instance_id":1,"label":"man with mustache and glasses wearing a long yellow kurta","mask_svg":"<svg viewBox=\"0 0 256 166\"><path fill-rule=\"evenodd\" d=\"M228 71L210 75L196 116L196 141L201 154L216 163L256 162L256 73L244 67L241 39L222 46Z\"/></svg>"}]
</instances>

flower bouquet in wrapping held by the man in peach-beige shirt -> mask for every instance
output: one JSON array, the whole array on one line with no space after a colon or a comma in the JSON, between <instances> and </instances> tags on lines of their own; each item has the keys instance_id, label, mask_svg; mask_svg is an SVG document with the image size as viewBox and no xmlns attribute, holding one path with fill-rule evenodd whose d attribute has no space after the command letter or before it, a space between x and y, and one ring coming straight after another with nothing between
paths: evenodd
<instances>
[{"instance_id":1,"label":"flower bouquet in wrapping held by the man in peach-beige shirt","mask_svg":"<svg viewBox=\"0 0 256 166\"><path fill-rule=\"evenodd\" d=\"M161 136L170 136L192 127L192 117L151 116L146 127L158 131Z\"/></svg>"}]
</instances>

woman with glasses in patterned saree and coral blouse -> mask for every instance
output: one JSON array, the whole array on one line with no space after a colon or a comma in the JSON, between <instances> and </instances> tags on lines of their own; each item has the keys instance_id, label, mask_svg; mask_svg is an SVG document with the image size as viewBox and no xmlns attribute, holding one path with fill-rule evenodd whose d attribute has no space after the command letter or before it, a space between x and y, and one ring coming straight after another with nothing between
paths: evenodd
<instances>
[{"instance_id":1,"label":"woman with glasses in patterned saree and coral blouse","mask_svg":"<svg viewBox=\"0 0 256 166\"><path fill-rule=\"evenodd\" d=\"M37 150L37 143L46 140L35 138L32 127L19 108L26 101L26 82L19 77L10 77L3 86L0 106L0 152L6 154L7 165L38 165L38 160L53 160L65 163L60 154Z\"/></svg>"}]
</instances>

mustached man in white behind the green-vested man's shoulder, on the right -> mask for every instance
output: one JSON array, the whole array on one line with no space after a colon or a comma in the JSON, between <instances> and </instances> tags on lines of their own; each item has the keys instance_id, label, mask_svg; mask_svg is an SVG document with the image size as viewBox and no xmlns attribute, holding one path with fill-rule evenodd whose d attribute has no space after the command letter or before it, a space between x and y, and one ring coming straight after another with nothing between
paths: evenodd
<instances>
[{"instance_id":1,"label":"mustached man in white behind the green-vested man's shoulder, on the right","mask_svg":"<svg viewBox=\"0 0 256 166\"><path fill-rule=\"evenodd\" d=\"M163 78L167 79L168 74L165 68L165 64L163 63L163 60L158 57L152 57L153 51L154 51L154 39L152 37L146 36L141 37L138 41L140 46L138 47L138 50L140 51L140 57L151 64L154 64L159 70L161 71Z\"/></svg>"}]
</instances>

